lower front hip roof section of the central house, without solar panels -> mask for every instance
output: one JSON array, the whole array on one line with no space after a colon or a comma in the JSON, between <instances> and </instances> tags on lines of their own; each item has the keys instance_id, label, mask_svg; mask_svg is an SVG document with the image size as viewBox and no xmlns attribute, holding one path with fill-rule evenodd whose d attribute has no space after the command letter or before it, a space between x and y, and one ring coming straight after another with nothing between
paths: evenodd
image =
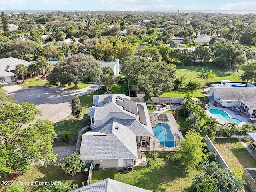
<instances>
[{"instance_id":1,"label":"lower front hip roof section of the central house, without solar panels","mask_svg":"<svg viewBox=\"0 0 256 192\"><path fill-rule=\"evenodd\" d=\"M118 127L118 129L116 129ZM101 132L94 129L82 136L81 159L136 159L136 135L114 118L108 120Z\"/></svg>"}]
</instances>

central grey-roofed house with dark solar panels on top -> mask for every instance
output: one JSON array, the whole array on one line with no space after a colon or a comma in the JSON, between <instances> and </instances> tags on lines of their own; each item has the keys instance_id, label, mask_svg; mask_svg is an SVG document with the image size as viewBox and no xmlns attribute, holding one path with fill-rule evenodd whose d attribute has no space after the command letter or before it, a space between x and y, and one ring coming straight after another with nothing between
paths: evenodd
<instances>
[{"instance_id":1,"label":"central grey-roofed house with dark solar panels on top","mask_svg":"<svg viewBox=\"0 0 256 192\"><path fill-rule=\"evenodd\" d=\"M150 146L153 130L146 103L126 95L94 95L89 108L92 130L82 135L80 154L100 167L127 167L138 158L137 145ZM140 145L139 145L140 146Z\"/></svg>"}]
</instances>

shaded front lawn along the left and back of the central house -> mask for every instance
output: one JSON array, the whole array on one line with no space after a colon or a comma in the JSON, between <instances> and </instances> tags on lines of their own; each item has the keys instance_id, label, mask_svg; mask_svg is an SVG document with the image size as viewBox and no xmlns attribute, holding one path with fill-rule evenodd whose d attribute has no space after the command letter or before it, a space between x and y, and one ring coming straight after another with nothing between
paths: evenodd
<instances>
[{"instance_id":1,"label":"shaded front lawn along the left and back of the central house","mask_svg":"<svg viewBox=\"0 0 256 192\"><path fill-rule=\"evenodd\" d=\"M123 85L122 84L114 84L110 86L113 94L122 94L123 93ZM84 125L84 120L88 118L89 107L93 106L92 98L96 95L96 92L92 92L90 94L81 96L81 105L82 105L82 113L78 120L74 118L74 116L70 115L60 122L54 124L54 128L57 134L62 134L64 131L69 132L70 134L76 135L80 129L84 126L88 126L88 124Z\"/></svg>"}]
</instances>

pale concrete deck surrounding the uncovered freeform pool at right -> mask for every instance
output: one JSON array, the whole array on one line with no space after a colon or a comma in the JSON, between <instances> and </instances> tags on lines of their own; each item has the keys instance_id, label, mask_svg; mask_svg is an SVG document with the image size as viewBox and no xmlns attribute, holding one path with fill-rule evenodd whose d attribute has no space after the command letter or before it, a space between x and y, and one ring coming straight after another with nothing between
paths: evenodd
<instances>
[{"instance_id":1,"label":"pale concrete deck surrounding the uncovered freeform pool at right","mask_svg":"<svg viewBox=\"0 0 256 192\"><path fill-rule=\"evenodd\" d=\"M210 107L208 108L208 110L205 110L205 112L208 116L212 116L213 118L221 118L221 119L223 119L223 120L225 120L226 122L229 123L229 121L226 120L226 118L218 117L218 116L216 116L214 114L211 114L209 112L210 109L218 109L218 110L222 110L222 111L226 112L229 117L236 118L236 119L239 119L240 121L242 121L241 123L238 124L238 126L242 126L244 124L252 124L251 122L249 122L248 116L241 116L241 115L239 115L239 112L232 111L230 107L225 108L225 107L216 107L216 106L214 106L213 105L214 100L209 97L210 89L209 90L206 89L205 92L206 92L206 96L208 97L208 99L210 99L210 102L208 103Z\"/></svg>"}]
</instances>

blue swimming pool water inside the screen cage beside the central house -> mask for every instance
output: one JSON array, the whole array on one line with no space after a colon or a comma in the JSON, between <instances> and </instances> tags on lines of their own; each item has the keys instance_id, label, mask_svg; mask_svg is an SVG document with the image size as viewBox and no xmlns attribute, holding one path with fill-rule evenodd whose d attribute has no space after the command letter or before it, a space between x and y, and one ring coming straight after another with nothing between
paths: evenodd
<instances>
[{"instance_id":1,"label":"blue swimming pool water inside the screen cage beside the central house","mask_svg":"<svg viewBox=\"0 0 256 192\"><path fill-rule=\"evenodd\" d=\"M168 124L158 123L153 128L154 135L160 141L163 146L174 147L176 143L174 142L174 137L172 131Z\"/></svg>"}]
</instances>

